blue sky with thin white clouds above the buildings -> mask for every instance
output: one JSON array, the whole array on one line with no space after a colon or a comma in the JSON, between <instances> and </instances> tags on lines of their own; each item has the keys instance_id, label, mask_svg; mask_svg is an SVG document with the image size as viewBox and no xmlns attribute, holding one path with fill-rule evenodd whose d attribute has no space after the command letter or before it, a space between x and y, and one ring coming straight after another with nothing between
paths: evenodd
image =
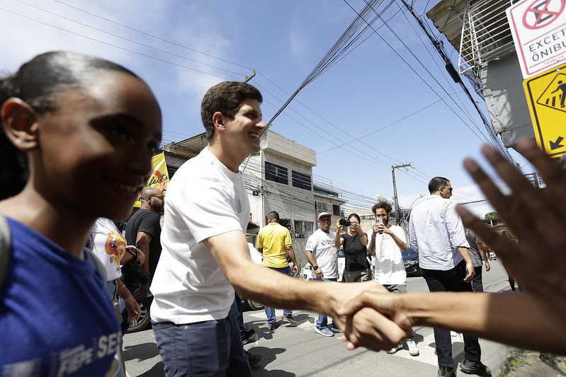
<instances>
[{"instance_id":1,"label":"blue sky with thin white clouds above the buildings","mask_svg":"<svg viewBox=\"0 0 566 377\"><path fill-rule=\"evenodd\" d=\"M417 13L424 14L436 1L416 3ZM363 0L4 0L0 69L15 71L50 50L123 64L157 95L164 141L179 141L203 132L200 100L210 86L243 81L252 69L250 83L264 95L267 122L364 5ZM477 134L486 134L484 126L401 7L400 0L393 1L383 18L402 42L377 21L373 27L380 37L366 31L356 48L300 91L271 130L315 150L315 182L346 192L347 206L361 197L392 197L391 166L402 163L412 164L395 173L402 207L426 194L435 175L451 180L457 202L480 200L462 160L479 158L483 141ZM426 16L424 21L431 25ZM457 62L458 52L446 41L444 46ZM485 102L474 96L485 111ZM526 165L514 151L511 156ZM470 209L480 216L492 210L485 203Z\"/></svg>"}]
</instances>

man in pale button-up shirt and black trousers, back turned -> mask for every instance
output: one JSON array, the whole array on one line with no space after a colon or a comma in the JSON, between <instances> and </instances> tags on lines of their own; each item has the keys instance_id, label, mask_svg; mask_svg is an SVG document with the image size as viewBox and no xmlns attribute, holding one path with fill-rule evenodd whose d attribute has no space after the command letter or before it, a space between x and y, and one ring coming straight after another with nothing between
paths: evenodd
<instances>
[{"instance_id":1,"label":"man in pale button-up shirt and black trousers, back turned","mask_svg":"<svg viewBox=\"0 0 566 377\"><path fill-rule=\"evenodd\" d=\"M409 221L409 240L419 253L419 265L429 291L472 291L474 265L449 180L435 177L429 182L431 196L415 207ZM434 329L438 376L455 376L450 332ZM477 337L464 335L464 373L491 376L482 364Z\"/></svg>"}]
</instances>

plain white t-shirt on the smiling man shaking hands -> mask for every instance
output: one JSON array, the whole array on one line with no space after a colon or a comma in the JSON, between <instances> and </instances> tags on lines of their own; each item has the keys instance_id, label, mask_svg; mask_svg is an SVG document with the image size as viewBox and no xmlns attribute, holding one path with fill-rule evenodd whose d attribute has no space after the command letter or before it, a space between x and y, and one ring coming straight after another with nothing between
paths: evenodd
<instances>
[{"instance_id":1,"label":"plain white t-shirt on the smiling man shaking hands","mask_svg":"<svg viewBox=\"0 0 566 377\"><path fill-rule=\"evenodd\" d=\"M249 199L241 173L207 149L183 163L169 185L162 253L152 280L152 320L177 325L226 318L234 301L228 282L203 240L242 231Z\"/></svg>"}]
</instances>

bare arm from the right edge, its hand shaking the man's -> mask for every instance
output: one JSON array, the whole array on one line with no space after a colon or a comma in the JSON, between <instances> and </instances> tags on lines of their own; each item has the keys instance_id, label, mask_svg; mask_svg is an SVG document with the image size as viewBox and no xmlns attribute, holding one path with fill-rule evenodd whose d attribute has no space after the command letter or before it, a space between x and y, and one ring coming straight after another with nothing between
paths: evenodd
<instances>
[{"instance_id":1,"label":"bare arm from the right edge, its hand shaking the man's","mask_svg":"<svg viewBox=\"0 0 566 377\"><path fill-rule=\"evenodd\" d=\"M566 354L564 320L562 324L557 319L549 320L548 308L541 306L531 294L390 294L370 289L339 311L341 315L355 313L351 319L353 331L342 335L342 339L349 342L349 349L361 346L378 350L368 345L366 339L372 336L380 339L387 323L383 323L383 317L368 307L383 313L404 329L411 326L438 327L516 347ZM364 326L362 321L370 325ZM349 323L346 322L346 328Z\"/></svg>"}]
</instances>

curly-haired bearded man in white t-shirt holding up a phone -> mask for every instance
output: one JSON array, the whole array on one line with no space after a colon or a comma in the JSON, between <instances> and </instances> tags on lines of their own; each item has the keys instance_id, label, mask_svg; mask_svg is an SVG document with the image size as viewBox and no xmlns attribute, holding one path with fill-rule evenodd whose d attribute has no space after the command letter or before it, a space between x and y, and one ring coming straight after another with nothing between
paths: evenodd
<instances>
[{"instance_id":1,"label":"curly-haired bearded man in white t-shirt holding up a phone","mask_svg":"<svg viewBox=\"0 0 566 377\"><path fill-rule=\"evenodd\" d=\"M391 204L387 202L373 205L371 210L375 215L375 224L368 231L368 253L374 255L373 279L383 285L387 291L404 294L407 292L407 272L401 251L407 250L407 244L404 242L406 238L403 228L389 224L391 209ZM411 356L419 356L414 332L407 339L407 347ZM399 349L402 349L401 342L387 353L395 354Z\"/></svg>"}]
</instances>

